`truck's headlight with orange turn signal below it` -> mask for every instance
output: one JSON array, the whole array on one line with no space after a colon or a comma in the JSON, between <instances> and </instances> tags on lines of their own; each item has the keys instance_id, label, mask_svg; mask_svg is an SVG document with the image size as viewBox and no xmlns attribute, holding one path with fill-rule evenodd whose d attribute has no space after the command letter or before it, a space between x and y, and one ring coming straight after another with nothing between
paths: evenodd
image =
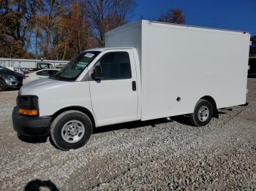
<instances>
[{"instance_id":1,"label":"truck's headlight with orange turn signal below it","mask_svg":"<svg viewBox=\"0 0 256 191\"><path fill-rule=\"evenodd\" d=\"M17 106L19 114L38 116L38 97L36 95L18 95Z\"/></svg>"}]
</instances>

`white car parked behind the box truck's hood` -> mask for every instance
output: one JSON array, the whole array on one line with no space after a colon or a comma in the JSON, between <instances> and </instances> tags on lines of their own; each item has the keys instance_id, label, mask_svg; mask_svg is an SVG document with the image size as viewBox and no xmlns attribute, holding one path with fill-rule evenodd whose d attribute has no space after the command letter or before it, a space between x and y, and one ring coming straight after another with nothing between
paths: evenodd
<instances>
[{"instance_id":1,"label":"white car parked behind the box truck's hood","mask_svg":"<svg viewBox=\"0 0 256 191\"><path fill-rule=\"evenodd\" d=\"M40 78L52 77L58 71L59 71L59 69L42 69L39 71L31 72L29 74L26 74L23 84L29 83L31 81L34 81L34 80L40 79Z\"/></svg>"}]
</instances>

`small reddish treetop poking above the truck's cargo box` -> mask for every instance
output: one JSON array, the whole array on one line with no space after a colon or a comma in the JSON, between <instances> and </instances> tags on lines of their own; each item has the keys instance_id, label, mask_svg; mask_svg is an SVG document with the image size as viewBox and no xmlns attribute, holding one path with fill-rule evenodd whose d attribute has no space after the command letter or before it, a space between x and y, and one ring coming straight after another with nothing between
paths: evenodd
<instances>
[{"instance_id":1,"label":"small reddish treetop poking above the truck's cargo box","mask_svg":"<svg viewBox=\"0 0 256 191\"><path fill-rule=\"evenodd\" d=\"M169 9L167 12L162 14L158 18L158 20L165 23L176 23L176 24L185 23L185 17L181 9Z\"/></svg>"}]
</instances>

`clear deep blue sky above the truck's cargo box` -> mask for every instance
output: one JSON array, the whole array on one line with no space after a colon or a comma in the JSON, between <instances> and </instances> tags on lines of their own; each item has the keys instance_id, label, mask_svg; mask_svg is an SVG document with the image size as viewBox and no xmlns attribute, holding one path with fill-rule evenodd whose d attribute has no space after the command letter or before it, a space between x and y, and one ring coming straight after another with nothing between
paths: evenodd
<instances>
[{"instance_id":1,"label":"clear deep blue sky above the truck's cargo box","mask_svg":"<svg viewBox=\"0 0 256 191\"><path fill-rule=\"evenodd\" d=\"M140 17L157 20L170 8L182 9L187 25L256 35L256 0L138 0L130 21Z\"/></svg>"}]
</instances>

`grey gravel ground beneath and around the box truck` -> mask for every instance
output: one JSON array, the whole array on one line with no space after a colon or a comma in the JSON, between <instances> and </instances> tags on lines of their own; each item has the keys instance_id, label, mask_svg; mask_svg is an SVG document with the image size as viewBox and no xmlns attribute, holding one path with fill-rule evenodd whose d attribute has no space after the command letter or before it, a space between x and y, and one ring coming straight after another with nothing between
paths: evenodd
<instances>
[{"instance_id":1,"label":"grey gravel ground beneath and around the box truck","mask_svg":"<svg viewBox=\"0 0 256 191\"><path fill-rule=\"evenodd\" d=\"M186 117L98 128L63 152L12 129L18 91L0 93L0 190L256 190L256 79L248 106L219 110L206 127Z\"/></svg>"}]
</instances>

